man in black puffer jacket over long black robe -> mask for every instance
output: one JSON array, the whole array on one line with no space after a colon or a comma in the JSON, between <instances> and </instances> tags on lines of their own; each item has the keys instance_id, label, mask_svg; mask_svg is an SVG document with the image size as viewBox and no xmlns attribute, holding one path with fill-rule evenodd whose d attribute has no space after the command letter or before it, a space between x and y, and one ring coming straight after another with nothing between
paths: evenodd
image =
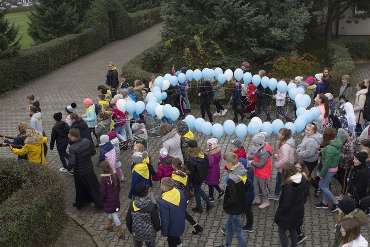
<instances>
[{"instance_id":1,"label":"man in black puffer jacket over long black robe","mask_svg":"<svg viewBox=\"0 0 370 247\"><path fill-rule=\"evenodd\" d=\"M74 169L74 186L76 201L73 206L80 208L85 203L94 203L96 208L102 207L100 201L99 181L94 173L91 156L96 154L94 144L80 138L80 132L71 128L69 133L71 147L67 170Z\"/></svg>"}]
</instances>

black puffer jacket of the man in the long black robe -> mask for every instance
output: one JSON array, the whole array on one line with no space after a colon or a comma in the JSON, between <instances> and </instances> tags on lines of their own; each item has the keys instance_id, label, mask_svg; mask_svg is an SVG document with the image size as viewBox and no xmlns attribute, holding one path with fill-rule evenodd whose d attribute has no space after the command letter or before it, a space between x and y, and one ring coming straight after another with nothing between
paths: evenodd
<instances>
[{"instance_id":1,"label":"black puffer jacket of the man in the long black robe","mask_svg":"<svg viewBox=\"0 0 370 247\"><path fill-rule=\"evenodd\" d=\"M91 156L96 154L94 144L82 138L70 142L70 157L68 159L67 170L74 169L75 176L85 176L94 172Z\"/></svg>"}]
</instances>

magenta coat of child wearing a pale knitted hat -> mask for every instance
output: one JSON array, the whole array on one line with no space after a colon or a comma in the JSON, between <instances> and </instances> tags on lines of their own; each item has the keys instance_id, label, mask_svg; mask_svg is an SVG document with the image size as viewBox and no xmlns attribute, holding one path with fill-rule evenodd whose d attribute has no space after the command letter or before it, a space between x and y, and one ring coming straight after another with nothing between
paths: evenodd
<instances>
[{"instance_id":1,"label":"magenta coat of child wearing a pale knitted hat","mask_svg":"<svg viewBox=\"0 0 370 247\"><path fill-rule=\"evenodd\" d=\"M211 149L207 152L208 157L208 172L207 178L204 180L204 183L207 185L219 185L220 183L220 161L222 158L221 148L217 147L215 149Z\"/></svg>"}]
</instances>

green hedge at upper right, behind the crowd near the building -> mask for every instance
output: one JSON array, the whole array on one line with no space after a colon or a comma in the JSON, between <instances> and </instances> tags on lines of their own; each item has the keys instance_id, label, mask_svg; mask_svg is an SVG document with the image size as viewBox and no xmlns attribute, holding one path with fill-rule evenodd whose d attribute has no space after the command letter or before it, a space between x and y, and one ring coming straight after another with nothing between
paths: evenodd
<instances>
[{"instance_id":1,"label":"green hedge at upper right, behind the crowd near the building","mask_svg":"<svg viewBox=\"0 0 370 247\"><path fill-rule=\"evenodd\" d=\"M355 71L355 64L341 41L332 41L328 44L328 63L331 67L333 96L337 97L342 85L342 76L352 76ZM351 86L355 86L353 82Z\"/></svg>"}]
</instances>

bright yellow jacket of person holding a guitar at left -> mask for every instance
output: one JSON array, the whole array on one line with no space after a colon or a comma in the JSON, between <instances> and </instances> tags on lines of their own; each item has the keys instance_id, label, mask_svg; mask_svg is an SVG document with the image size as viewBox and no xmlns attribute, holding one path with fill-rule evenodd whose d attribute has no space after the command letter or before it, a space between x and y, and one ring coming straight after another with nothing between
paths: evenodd
<instances>
[{"instance_id":1,"label":"bright yellow jacket of person holding a guitar at left","mask_svg":"<svg viewBox=\"0 0 370 247\"><path fill-rule=\"evenodd\" d=\"M47 142L47 137L42 136L41 132L34 137L27 137L24 141L25 145L22 149L12 148L11 151L14 154L23 156L27 155L27 160L29 162L41 163L41 165L46 165L43 143Z\"/></svg>"}]
</instances>

